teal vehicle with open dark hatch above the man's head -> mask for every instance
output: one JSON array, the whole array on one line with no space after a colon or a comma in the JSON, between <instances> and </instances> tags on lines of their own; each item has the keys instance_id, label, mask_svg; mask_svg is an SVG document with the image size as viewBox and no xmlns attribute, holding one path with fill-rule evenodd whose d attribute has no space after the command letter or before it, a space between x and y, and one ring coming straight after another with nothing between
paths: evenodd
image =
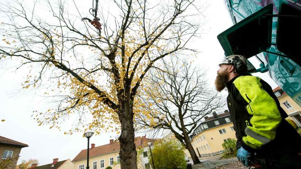
<instances>
[{"instance_id":1,"label":"teal vehicle with open dark hatch above the man's head","mask_svg":"<svg viewBox=\"0 0 301 169\"><path fill-rule=\"evenodd\" d=\"M225 0L233 25L217 36L225 56L255 57L248 72L268 75L301 106L301 0ZM256 63L258 64L258 63Z\"/></svg>"}]
</instances>

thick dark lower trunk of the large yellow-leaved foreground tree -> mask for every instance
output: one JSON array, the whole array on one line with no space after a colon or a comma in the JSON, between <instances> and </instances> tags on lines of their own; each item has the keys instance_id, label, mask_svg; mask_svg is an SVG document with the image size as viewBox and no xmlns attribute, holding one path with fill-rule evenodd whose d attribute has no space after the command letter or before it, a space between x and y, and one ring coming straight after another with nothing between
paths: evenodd
<instances>
[{"instance_id":1,"label":"thick dark lower trunk of the large yellow-leaved foreground tree","mask_svg":"<svg viewBox=\"0 0 301 169\"><path fill-rule=\"evenodd\" d=\"M121 103L121 102L119 102ZM121 123L120 142L120 167L121 169L137 169L137 152L135 146L135 131L133 128L133 107L130 101L119 104L119 121Z\"/></svg>"}]
</instances>

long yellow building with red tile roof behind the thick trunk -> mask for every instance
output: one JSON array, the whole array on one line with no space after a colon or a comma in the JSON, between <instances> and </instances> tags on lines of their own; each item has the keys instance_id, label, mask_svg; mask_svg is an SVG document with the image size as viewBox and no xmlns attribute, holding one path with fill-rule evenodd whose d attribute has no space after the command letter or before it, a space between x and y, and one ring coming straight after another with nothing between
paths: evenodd
<instances>
[{"instance_id":1,"label":"long yellow building with red tile roof behind the thick trunk","mask_svg":"<svg viewBox=\"0 0 301 169\"><path fill-rule=\"evenodd\" d=\"M146 136L135 137L136 147L143 148L143 153L138 157L137 166L139 169L148 169L150 164L148 163L147 151L149 147L148 142L154 143L157 140L146 138ZM109 144L95 147L95 144L91 144L89 149L89 168L91 169L105 169L111 166L112 169L120 169L120 157L119 157L120 144L110 140ZM87 165L87 149L82 150L73 160L73 169L86 169Z\"/></svg>"}]
</instances>

